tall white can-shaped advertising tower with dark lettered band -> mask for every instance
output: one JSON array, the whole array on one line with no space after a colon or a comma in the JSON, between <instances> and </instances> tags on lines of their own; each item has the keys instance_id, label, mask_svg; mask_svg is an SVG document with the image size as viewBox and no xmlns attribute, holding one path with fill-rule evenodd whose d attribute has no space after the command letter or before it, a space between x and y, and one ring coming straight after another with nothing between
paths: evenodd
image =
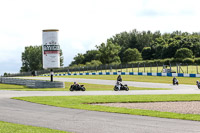
<instances>
[{"instance_id":1,"label":"tall white can-shaped advertising tower with dark lettered band","mask_svg":"<svg viewBox=\"0 0 200 133\"><path fill-rule=\"evenodd\" d=\"M57 29L43 30L42 57L43 68L60 68L60 45Z\"/></svg>"}]
</instances>

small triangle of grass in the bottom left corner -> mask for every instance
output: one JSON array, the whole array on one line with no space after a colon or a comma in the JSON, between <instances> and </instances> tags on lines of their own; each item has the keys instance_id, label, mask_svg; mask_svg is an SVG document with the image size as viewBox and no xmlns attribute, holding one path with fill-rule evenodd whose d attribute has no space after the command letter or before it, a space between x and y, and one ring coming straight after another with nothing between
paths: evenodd
<instances>
[{"instance_id":1,"label":"small triangle of grass in the bottom left corner","mask_svg":"<svg viewBox=\"0 0 200 133\"><path fill-rule=\"evenodd\" d=\"M0 121L0 133L67 133L49 128L27 126Z\"/></svg>"}]
</instances>

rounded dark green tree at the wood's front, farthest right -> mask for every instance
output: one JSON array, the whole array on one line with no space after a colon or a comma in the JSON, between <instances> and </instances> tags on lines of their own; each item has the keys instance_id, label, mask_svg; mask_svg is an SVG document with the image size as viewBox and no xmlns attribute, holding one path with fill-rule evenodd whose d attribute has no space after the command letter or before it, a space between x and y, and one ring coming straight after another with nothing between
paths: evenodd
<instances>
[{"instance_id":1,"label":"rounded dark green tree at the wood's front, farthest right","mask_svg":"<svg viewBox=\"0 0 200 133\"><path fill-rule=\"evenodd\" d=\"M180 59L192 58L193 53L192 50L188 48L180 48L176 51L175 57Z\"/></svg>"}]
</instances>

